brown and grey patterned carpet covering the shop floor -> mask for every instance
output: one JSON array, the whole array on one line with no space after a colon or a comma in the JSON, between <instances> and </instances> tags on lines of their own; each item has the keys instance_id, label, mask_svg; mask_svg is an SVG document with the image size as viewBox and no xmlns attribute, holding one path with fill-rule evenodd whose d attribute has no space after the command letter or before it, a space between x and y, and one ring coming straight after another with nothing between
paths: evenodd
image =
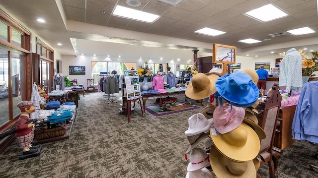
<instances>
[{"instance_id":1,"label":"brown and grey patterned carpet covering the shop floor","mask_svg":"<svg viewBox=\"0 0 318 178\"><path fill-rule=\"evenodd\" d=\"M200 109L157 118L143 118L136 109L128 123L119 114L120 101L107 104L102 95L80 96L71 137L43 144L40 156L18 160L14 141L0 154L0 178L185 178L189 161L184 151L189 143L184 131L189 116ZM115 95L118 100L120 94ZM184 95L178 100L184 101ZM149 99L147 104L154 102ZM310 157L317 150L305 141L294 143L280 159L279 178L318 177L307 169L318 165ZM268 178L267 172L267 165L258 171L262 178Z\"/></svg>"}]
</instances>

